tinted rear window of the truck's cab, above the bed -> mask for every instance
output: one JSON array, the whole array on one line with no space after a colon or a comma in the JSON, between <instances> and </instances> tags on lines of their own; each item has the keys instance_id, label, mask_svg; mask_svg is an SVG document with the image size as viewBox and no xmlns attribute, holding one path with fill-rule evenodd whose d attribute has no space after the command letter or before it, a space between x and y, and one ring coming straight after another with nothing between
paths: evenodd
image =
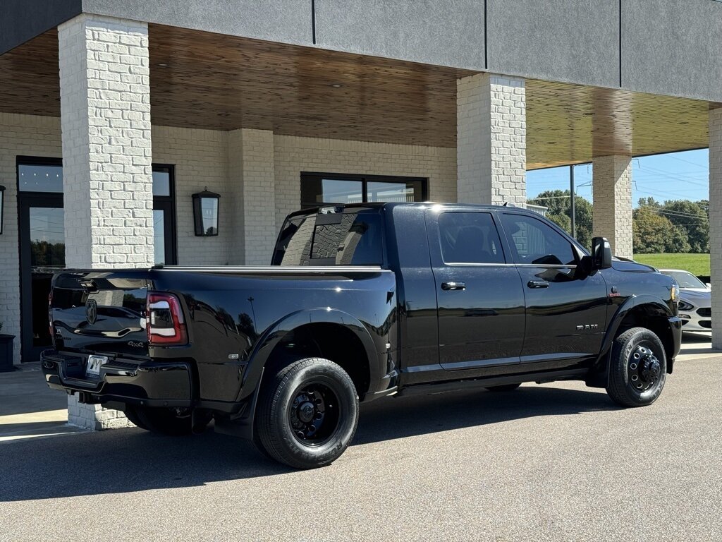
<instances>
[{"instance_id":1,"label":"tinted rear window of the truck's cab, above the bed","mask_svg":"<svg viewBox=\"0 0 722 542\"><path fill-rule=\"evenodd\" d=\"M378 210L329 212L286 220L274 265L381 265L383 249Z\"/></svg>"}]
</instances>

